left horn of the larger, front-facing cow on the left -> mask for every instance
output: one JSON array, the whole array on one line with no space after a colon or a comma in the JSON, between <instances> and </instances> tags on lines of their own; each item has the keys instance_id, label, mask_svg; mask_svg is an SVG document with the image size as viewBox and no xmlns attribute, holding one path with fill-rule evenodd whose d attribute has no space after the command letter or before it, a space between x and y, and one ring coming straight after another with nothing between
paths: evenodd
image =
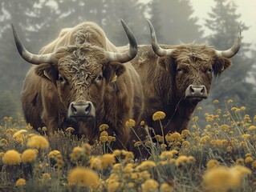
<instances>
[{"instance_id":1,"label":"left horn of the larger, front-facing cow on the left","mask_svg":"<svg viewBox=\"0 0 256 192\"><path fill-rule=\"evenodd\" d=\"M22 45L20 38L16 30L14 29L14 25L11 24L13 33L14 33L14 40L18 49L18 53L26 60L26 62L30 62L36 65L41 63L52 63L55 62L53 54L31 54L26 48Z\"/></svg>"}]
</instances>

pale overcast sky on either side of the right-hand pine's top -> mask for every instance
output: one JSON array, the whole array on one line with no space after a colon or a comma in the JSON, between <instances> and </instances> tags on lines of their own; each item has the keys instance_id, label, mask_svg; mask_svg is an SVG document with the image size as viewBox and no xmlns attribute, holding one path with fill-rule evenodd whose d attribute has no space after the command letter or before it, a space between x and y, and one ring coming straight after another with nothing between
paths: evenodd
<instances>
[{"instance_id":1,"label":"pale overcast sky on either side of the right-hand pine's top","mask_svg":"<svg viewBox=\"0 0 256 192\"><path fill-rule=\"evenodd\" d=\"M256 0L230 0L238 6L237 14L241 14L241 22L249 26L250 29L242 31L244 42L253 43L256 48ZM190 0L193 6L194 16L199 18L199 23L204 24L204 18L208 18L208 13L215 6L213 0ZM205 34L209 33L205 31Z\"/></svg>"}]
</instances>

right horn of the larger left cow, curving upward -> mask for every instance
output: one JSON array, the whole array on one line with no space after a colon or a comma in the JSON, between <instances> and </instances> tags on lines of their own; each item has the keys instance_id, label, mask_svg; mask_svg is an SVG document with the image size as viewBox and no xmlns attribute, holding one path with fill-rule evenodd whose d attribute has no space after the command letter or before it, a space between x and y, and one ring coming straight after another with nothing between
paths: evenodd
<instances>
[{"instance_id":1,"label":"right horn of the larger left cow, curving upward","mask_svg":"<svg viewBox=\"0 0 256 192\"><path fill-rule=\"evenodd\" d=\"M124 22L123 19L121 19L121 23L124 27L125 33L127 34L130 48L128 52L126 53L113 53L113 52L108 52L108 61L110 62L129 62L132 60L132 58L136 57L138 46L136 42L136 38L132 34L132 30L129 29L127 24Z\"/></svg>"}]
</instances>

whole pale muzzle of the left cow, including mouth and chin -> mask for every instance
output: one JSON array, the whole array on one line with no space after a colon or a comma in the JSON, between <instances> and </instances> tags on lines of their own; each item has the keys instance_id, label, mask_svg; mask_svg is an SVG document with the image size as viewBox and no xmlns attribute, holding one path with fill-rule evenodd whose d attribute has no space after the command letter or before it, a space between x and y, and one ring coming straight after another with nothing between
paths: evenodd
<instances>
[{"instance_id":1,"label":"whole pale muzzle of the left cow, including mouth and chin","mask_svg":"<svg viewBox=\"0 0 256 192\"><path fill-rule=\"evenodd\" d=\"M68 109L69 118L95 118L95 107L91 102L71 102Z\"/></svg>"}]
</instances>

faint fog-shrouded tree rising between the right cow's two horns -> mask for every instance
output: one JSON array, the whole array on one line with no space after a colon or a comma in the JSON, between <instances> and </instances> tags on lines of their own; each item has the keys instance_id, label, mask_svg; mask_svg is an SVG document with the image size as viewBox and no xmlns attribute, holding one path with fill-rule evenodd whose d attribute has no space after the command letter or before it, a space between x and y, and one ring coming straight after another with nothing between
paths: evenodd
<instances>
[{"instance_id":1,"label":"faint fog-shrouded tree rising between the right cow's two horns","mask_svg":"<svg viewBox=\"0 0 256 192\"><path fill-rule=\"evenodd\" d=\"M189 0L154 0L149 9L160 43L173 45L202 41L201 27L197 25L197 18L192 17Z\"/></svg>"}]
</instances>

